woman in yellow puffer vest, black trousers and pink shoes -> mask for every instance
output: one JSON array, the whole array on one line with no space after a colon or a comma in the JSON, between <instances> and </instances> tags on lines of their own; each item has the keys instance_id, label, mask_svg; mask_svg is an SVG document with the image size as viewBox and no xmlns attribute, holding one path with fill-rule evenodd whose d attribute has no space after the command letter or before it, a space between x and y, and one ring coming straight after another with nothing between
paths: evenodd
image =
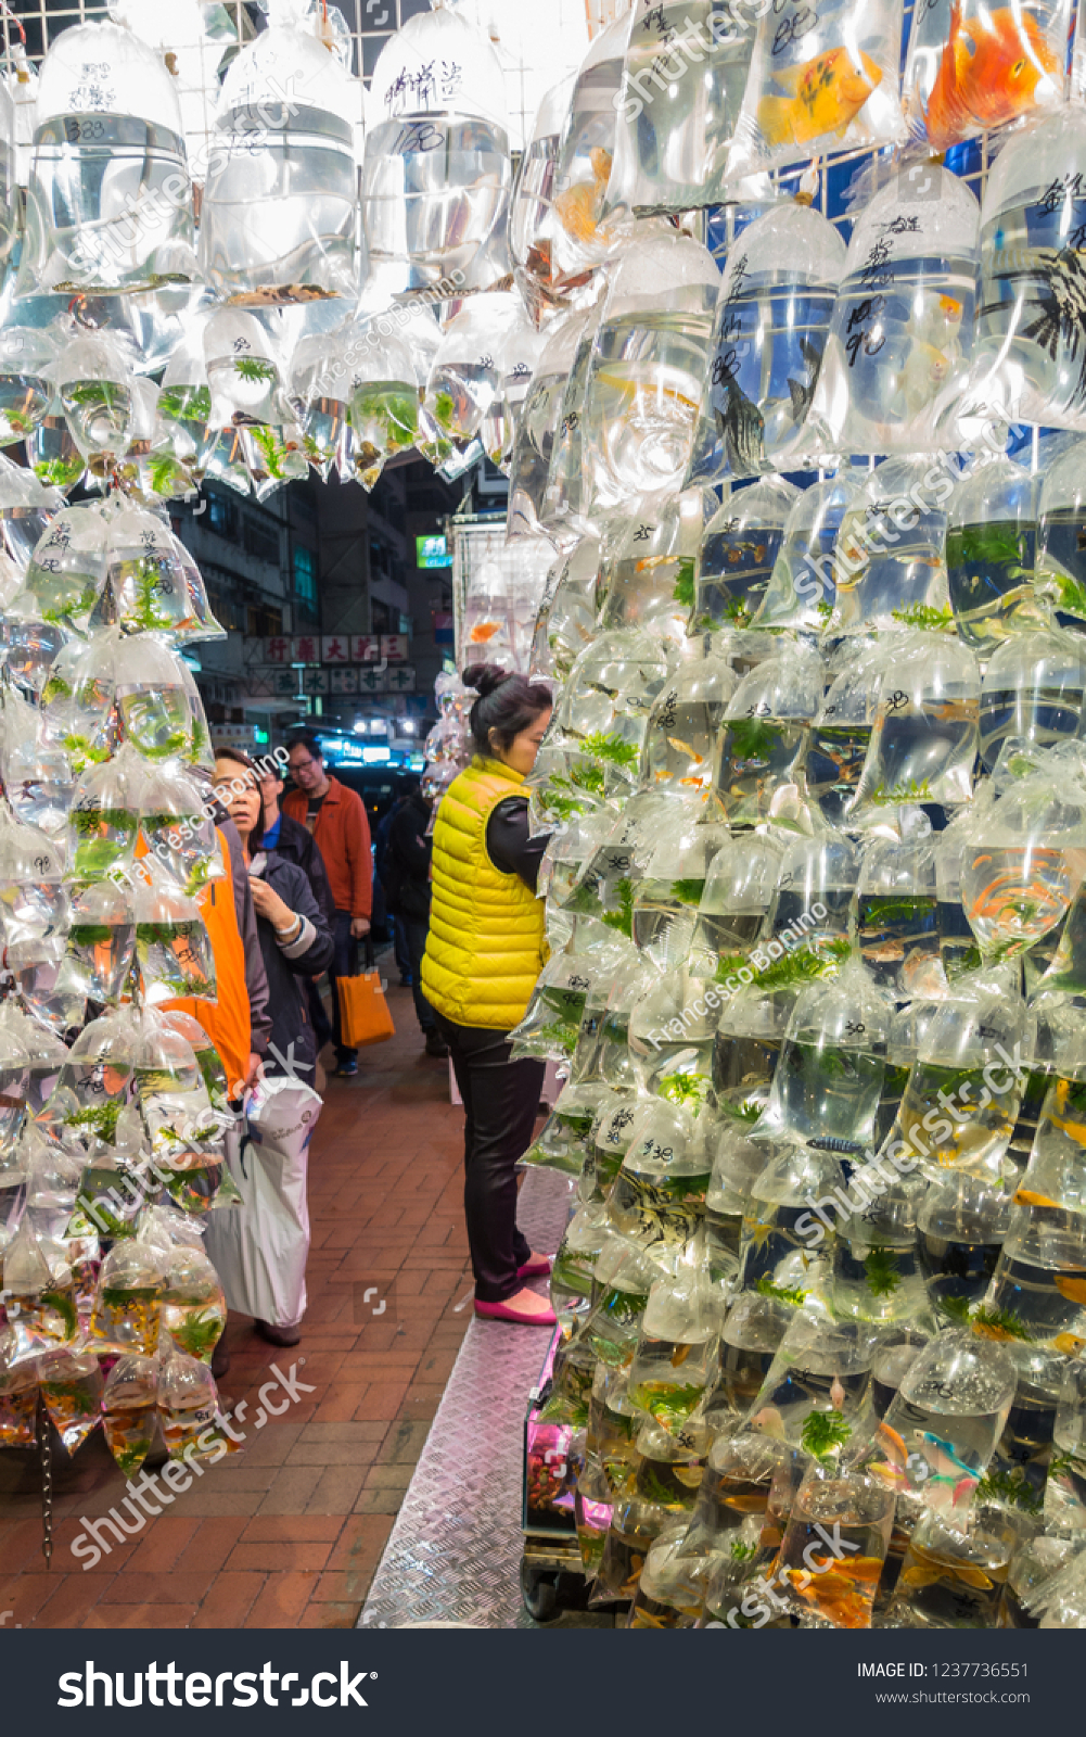
<instances>
[{"instance_id":1,"label":"woman in yellow puffer vest, black trousers and pink shoes","mask_svg":"<svg viewBox=\"0 0 1086 1737\"><path fill-rule=\"evenodd\" d=\"M543 964L536 874L546 837L527 835L519 785L550 723L550 690L493 664L463 672L479 698L475 757L453 780L434 825L430 933L422 990L449 1046L463 1098L463 1212L475 1273L475 1313L552 1327L524 1278L550 1271L517 1228L517 1159L531 1143L543 1063L510 1061Z\"/></svg>"}]
</instances>

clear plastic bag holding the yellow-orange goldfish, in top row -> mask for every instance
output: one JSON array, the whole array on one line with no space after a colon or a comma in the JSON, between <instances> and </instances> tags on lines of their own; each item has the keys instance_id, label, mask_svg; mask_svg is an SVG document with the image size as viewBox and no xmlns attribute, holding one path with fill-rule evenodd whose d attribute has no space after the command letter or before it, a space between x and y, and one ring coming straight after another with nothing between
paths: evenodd
<instances>
[{"instance_id":1,"label":"clear plastic bag holding the yellow-orange goldfish, in top row","mask_svg":"<svg viewBox=\"0 0 1086 1737\"><path fill-rule=\"evenodd\" d=\"M758 23L729 181L836 149L897 144L902 12L775 3Z\"/></svg>"}]
</instances>

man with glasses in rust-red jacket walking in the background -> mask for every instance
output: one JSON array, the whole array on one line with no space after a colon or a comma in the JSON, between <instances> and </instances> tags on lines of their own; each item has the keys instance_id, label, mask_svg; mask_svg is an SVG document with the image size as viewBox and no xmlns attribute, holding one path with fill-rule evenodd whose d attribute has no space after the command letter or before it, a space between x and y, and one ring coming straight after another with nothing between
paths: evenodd
<instances>
[{"instance_id":1,"label":"man with glasses in rust-red jacket walking in the background","mask_svg":"<svg viewBox=\"0 0 1086 1737\"><path fill-rule=\"evenodd\" d=\"M340 1079L350 1079L357 1073L357 1049L343 1044L338 980L352 976L357 941L370 933L373 908L370 822L361 796L324 771L324 756L309 730L291 736L286 752L297 789L285 797L283 813L314 835L335 902L333 959L328 969L335 1072Z\"/></svg>"}]
</instances>

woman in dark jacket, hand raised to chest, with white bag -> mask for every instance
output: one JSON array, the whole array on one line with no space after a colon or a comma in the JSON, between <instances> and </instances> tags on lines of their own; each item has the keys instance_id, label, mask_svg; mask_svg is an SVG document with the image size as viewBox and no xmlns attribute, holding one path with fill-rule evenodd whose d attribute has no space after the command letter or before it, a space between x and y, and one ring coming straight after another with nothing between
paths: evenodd
<instances>
[{"instance_id":1,"label":"woman in dark jacket, hand raised to chest, with white bag","mask_svg":"<svg viewBox=\"0 0 1086 1737\"><path fill-rule=\"evenodd\" d=\"M307 978L317 976L331 962L331 933L305 872L297 863L278 856L276 851L262 848L264 804L252 761L234 749L220 752L215 757L215 789L238 829L257 910L257 935L264 954L272 1020L264 1073L312 1089L317 1046L304 987ZM316 1120L312 1110L319 1110L319 1098L316 1103L309 1098L307 1106L312 1131ZM252 1162L258 1162L258 1159L253 1157ZM297 1344L302 1337L305 1259L309 1254L307 1164L309 1148L305 1145L298 1153L285 1159L276 1172L278 1247L271 1251L265 1245L265 1237L258 1233L255 1221L246 1214L229 1244L236 1258L220 1265L229 1306L246 1315L257 1315L262 1306L258 1298L267 1296L267 1287L252 1292L252 1275L267 1271L269 1263L279 1270L274 1294L278 1310L286 1318L255 1320L257 1332L271 1344ZM291 1275L290 1280L286 1280L286 1273ZM253 1301L250 1301L250 1292Z\"/></svg>"}]
</instances>

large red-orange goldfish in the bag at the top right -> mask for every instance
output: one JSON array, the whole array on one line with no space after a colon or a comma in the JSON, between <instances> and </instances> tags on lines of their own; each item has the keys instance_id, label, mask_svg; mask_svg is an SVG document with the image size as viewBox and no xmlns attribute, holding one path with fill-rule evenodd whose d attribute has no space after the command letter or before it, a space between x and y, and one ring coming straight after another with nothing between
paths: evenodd
<instances>
[{"instance_id":1,"label":"large red-orange goldfish in the bag at the top right","mask_svg":"<svg viewBox=\"0 0 1086 1737\"><path fill-rule=\"evenodd\" d=\"M1001 127L1034 106L1041 78L1058 63L1037 21L1011 7L961 23L961 0L951 0L951 30L942 50L925 123L928 144L945 151L973 127Z\"/></svg>"}]
</instances>

